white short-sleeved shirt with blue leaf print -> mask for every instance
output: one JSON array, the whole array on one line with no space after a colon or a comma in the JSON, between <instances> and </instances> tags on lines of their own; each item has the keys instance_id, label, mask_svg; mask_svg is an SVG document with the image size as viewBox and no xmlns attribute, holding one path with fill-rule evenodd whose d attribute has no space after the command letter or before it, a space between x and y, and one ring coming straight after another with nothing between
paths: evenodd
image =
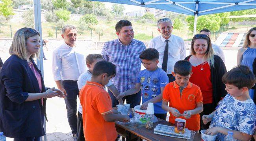
<instances>
[{"instance_id":1,"label":"white short-sleeved shirt with blue leaf print","mask_svg":"<svg viewBox=\"0 0 256 141\"><path fill-rule=\"evenodd\" d=\"M256 106L252 99L239 101L230 94L220 102L210 124L253 135L256 129ZM217 141L224 141L224 134L217 135Z\"/></svg>"}]
</instances>

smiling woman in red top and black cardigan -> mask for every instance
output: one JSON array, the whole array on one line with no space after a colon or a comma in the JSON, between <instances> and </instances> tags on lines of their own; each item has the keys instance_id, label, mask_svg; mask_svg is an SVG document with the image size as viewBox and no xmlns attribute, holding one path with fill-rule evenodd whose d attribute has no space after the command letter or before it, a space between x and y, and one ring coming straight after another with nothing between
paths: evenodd
<instances>
[{"instance_id":1,"label":"smiling woman in red top and black cardigan","mask_svg":"<svg viewBox=\"0 0 256 141\"><path fill-rule=\"evenodd\" d=\"M202 115L210 114L215 110L217 103L227 94L221 78L226 73L226 66L221 58L214 55L211 39L205 34L196 34L191 42L191 55L187 56L192 64L189 81L202 91L204 110L200 114L200 128L208 129L210 124L202 123Z\"/></svg>"}]
</instances>

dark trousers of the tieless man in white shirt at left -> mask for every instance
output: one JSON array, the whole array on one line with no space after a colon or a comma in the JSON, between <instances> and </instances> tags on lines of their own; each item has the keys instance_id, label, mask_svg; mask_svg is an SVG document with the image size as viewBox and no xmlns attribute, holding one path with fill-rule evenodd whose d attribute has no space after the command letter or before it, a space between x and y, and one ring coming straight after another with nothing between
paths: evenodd
<instances>
[{"instance_id":1,"label":"dark trousers of the tieless man in white shirt at left","mask_svg":"<svg viewBox=\"0 0 256 141\"><path fill-rule=\"evenodd\" d=\"M79 94L77 81L63 80L61 81L63 88L67 92L67 98L65 98L65 104L67 109L67 117L69 121L69 126L71 128L72 134L77 134L77 102L76 98Z\"/></svg>"}]
</instances>

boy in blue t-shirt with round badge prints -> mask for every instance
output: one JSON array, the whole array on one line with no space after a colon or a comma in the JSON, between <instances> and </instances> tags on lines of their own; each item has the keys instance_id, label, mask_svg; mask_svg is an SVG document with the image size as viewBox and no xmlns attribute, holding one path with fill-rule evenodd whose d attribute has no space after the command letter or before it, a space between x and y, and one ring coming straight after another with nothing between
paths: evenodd
<instances>
[{"instance_id":1,"label":"boy in blue t-shirt with round badge prints","mask_svg":"<svg viewBox=\"0 0 256 141\"><path fill-rule=\"evenodd\" d=\"M166 120L167 111L163 110L161 105L163 89L169 83L169 79L166 72L157 66L159 63L159 52L154 48L146 49L141 52L139 58L146 69L139 72L135 87L122 92L117 96L117 99L136 94L141 89L143 103L141 109L147 109L148 103L152 102L154 103L154 115Z\"/></svg>"}]
</instances>

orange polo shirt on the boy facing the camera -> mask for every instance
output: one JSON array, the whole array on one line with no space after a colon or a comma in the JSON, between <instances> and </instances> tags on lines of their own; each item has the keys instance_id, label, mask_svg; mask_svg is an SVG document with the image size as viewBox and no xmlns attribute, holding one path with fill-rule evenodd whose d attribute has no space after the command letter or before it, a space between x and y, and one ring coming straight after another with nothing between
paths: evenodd
<instances>
[{"instance_id":1,"label":"orange polo shirt on the boy facing the camera","mask_svg":"<svg viewBox=\"0 0 256 141\"><path fill-rule=\"evenodd\" d=\"M179 110L180 114L183 114L185 110L193 110L197 108L196 103L202 103L202 93L200 88L188 82L187 87L182 90L180 94L180 86L177 85L176 81L168 83L163 90L163 100L169 101L169 107L176 108ZM185 117L174 117L171 112L169 117L169 122L174 124L174 119ZM194 131L200 129L200 115L192 115L191 118L186 119L186 128Z\"/></svg>"}]
</instances>

